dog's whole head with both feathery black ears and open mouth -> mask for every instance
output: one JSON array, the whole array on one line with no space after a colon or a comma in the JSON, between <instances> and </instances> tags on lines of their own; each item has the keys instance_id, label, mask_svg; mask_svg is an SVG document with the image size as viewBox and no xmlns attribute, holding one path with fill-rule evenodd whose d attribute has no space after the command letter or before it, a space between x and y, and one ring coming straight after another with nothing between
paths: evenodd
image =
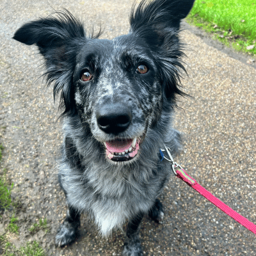
<instances>
[{"instance_id":1,"label":"dog's whole head with both feathery black ears and open mouth","mask_svg":"<svg viewBox=\"0 0 256 256\"><path fill-rule=\"evenodd\" d=\"M29 22L13 38L36 44L47 81L61 93L63 115L79 115L111 161L138 157L148 129L170 111L179 89L180 20L194 0L143 0L132 8L128 35L86 37L69 12Z\"/></svg>"}]
</instances>

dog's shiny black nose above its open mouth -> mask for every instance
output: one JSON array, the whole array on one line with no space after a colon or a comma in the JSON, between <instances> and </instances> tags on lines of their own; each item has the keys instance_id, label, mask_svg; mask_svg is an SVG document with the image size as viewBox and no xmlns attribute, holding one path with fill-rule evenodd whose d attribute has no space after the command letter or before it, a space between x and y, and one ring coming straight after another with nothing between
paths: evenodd
<instances>
[{"instance_id":1,"label":"dog's shiny black nose above its open mouth","mask_svg":"<svg viewBox=\"0 0 256 256\"><path fill-rule=\"evenodd\" d=\"M131 124L131 108L122 104L104 105L97 111L96 118L102 131L118 134Z\"/></svg>"}]
</instances>

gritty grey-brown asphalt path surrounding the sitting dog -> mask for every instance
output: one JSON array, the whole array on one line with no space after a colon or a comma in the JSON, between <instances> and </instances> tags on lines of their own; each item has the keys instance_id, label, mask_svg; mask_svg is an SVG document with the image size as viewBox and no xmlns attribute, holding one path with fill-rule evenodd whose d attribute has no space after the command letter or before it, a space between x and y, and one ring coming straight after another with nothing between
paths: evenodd
<instances>
[{"instance_id":1,"label":"gritty grey-brown asphalt path surrounding the sitting dog","mask_svg":"<svg viewBox=\"0 0 256 256\"><path fill-rule=\"evenodd\" d=\"M12 40L24 22L45 17L61 7L83 17L88 29L104 28L102 38L129 31L133 1L0 1L0 143L1 170L14 183L13 198L20 202L19 247L39 241L46 255L121 255L124 236L108 239L83 217L81 237L67 248L55 248L54 236L65 218L63 193L57 184L62 140L58 100L42 78L42 58L36 47ZM256 223L256 70L204 43L187 29L188 76L179 99L175 127L184 134L184 152L177 159L199 184ZM181 180L173 178L161 200L165 216L157 225L144 218L141 243L145 255L256 255L256 239L236 221L207 202ZM10 212L0 220L0 233ZM28 228L47 218L49 232L30 234Z\"/></svg>"}]
</instances>

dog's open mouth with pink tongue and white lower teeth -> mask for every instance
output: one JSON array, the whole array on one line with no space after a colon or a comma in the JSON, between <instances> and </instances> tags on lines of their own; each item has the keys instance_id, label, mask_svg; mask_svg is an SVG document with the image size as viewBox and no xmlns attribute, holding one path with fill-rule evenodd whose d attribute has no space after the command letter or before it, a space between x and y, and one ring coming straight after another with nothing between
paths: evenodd
<instances>
[{"instance_id":1,"label":"dog's open mouth with pink tongue and white lower teeth","mask_svg":"<svg viewBox=\"0 0 256 256\"><path fill-rule=\"evenodd\" d=\"M106 156L111 161L122 162L134 159L140 149L140 139L115 139L106 141Z\"/></svg>"}]
</instances>

